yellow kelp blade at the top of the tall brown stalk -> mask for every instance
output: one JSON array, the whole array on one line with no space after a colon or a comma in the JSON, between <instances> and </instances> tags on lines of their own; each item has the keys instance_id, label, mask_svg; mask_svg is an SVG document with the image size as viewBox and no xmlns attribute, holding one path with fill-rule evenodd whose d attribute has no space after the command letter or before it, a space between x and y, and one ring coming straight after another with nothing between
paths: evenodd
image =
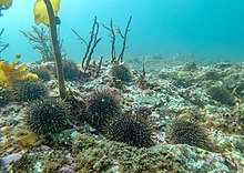
<instances>
[{"instance_id":1,"label":"yellow kelp blade at the top of the tall brown stalk","mask_svg":"<svg viewBox=\"0 0 244 173\"><path fill-rule=\"evenodd\" d=\"M60 0L50 0L54 16L58 17L58 11L60 8ZM34 21L37 24L43 22L45 26L50 26L49 16L47 11L47 7L43 0L37 0L34 3Z\"/></svg>"}]
</instances>

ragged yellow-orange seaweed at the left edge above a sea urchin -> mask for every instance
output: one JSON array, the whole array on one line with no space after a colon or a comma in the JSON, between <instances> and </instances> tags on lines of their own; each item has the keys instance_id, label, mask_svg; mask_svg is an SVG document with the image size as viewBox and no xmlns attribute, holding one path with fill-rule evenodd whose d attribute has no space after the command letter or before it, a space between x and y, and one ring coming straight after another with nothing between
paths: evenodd
<instances>
[{"instance_id":1,"label":"ragged yellow-orange seaweed at the left edge above a sea urchin","mask_svg":"<svg viewBox=\"0 0 244 173\"><path fill-rule=\"evenodd\" d=\"M38 79L37 74L28 72L27 64L21 64L17 67L17 60L20 55L16 55L16 60L9 64L7 61L0 62L0 83L4 84L7 88L12 89L14 82L24 79Z\"/></svg>"}]
</instances>

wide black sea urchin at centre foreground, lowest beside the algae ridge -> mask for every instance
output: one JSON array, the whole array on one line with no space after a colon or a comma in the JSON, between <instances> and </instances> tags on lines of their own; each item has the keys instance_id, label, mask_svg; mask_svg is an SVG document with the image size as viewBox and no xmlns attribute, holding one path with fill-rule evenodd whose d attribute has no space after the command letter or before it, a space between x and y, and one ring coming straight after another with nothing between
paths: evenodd
<instances>
[{"instance_id":1,"label":"wide black sea urchin at centre foreground, lowest beside the algae ridge","mask_svg":"<svg viewBox=\"0 0 244 173\"><path fill-rule=\"evenodd\" d=\"M116 116L105 126L105 135L131 146L148 147L153 144L152 130L145 120L132 115Z\"/></svg>"}]
</instances>

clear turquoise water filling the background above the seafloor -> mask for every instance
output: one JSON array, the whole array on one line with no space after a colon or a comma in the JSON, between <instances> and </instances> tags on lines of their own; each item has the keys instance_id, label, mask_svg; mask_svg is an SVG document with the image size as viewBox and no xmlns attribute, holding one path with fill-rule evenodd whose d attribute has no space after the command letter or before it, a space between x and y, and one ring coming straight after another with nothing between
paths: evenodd
<instances>
[{"instance_id":1,"label":"clear turquoise water filling the background above the seafloor","mask_svg":"<svg viewBox=\"0 0 244 173\"><path fill-rule=\"evenodd\" d=\"M34 24L33 4L34 0L13 0L12 7L2 11L2 40L10 43L1 53L4 59L12 60L17 53L22 54L22 61L40 59L19 32L30 31ZM129 58L157 53L172 57L180 52L212 60L244 60L243 0L61 0L61 37L69 58L80 61L84 53L84 44L71 29L89 40L94 16L104 24L112 18L122 29L133 17L125 52ZM101 27L102 41L94 58L110 59L108 34Z\"/></svg>"}]
</instances>

